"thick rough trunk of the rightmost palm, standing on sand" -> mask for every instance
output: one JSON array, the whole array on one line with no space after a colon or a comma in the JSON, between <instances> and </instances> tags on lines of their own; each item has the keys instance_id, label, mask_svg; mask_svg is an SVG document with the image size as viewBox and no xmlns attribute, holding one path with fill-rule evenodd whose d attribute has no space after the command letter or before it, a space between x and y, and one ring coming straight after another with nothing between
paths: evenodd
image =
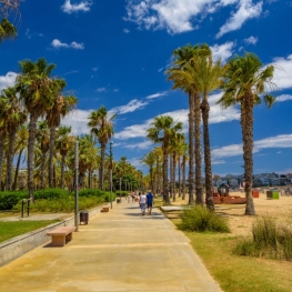
<instances>
[{"instance_id":1,"label":"thick rough trunk of the rightmost palm, standing on sand","mask_svg":"<svg viewBox=\"0 0 292 292\"><path fill-rule=\"evenodd\" d=\"M242 140L245 178L245 215L255 215L252 197L252 173L253 173L253 94L249 92L244 99L244 115L242 117Z\"/></svg>"}]
</instances>

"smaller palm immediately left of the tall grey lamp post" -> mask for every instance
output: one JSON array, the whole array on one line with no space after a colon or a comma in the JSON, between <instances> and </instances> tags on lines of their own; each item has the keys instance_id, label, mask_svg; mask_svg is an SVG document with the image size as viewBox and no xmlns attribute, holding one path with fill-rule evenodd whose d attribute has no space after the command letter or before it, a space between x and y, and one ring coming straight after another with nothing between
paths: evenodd
<instances>
[{"instance_id":1,"label":"smaller palm immediately left of the tall grey lamp post","mask_svg":"<svg viewBox=\"0 0 292 292\"><path fill-rule=\"evenodd\" d=\"M56 149L61 154L61 178L60 178L60 188L64 188L64 167L66 167L66 157L70 148L73 148L74 137L70 135L71 127L59 127L57 131L57 141Z\"/></svg>"}]
</instances>

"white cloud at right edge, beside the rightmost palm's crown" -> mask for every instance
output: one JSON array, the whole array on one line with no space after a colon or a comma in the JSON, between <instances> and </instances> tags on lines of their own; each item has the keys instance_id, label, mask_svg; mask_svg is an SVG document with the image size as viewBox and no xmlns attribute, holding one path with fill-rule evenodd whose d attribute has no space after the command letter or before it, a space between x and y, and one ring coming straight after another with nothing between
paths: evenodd
<instances>
[{"instance_id":1,"label":"white cloud at right edge, beside the rightmost palm's crown","mask_svg":"<svg viewBox=\"0 0 292 292\"><path fill-rule=\"evenodd\" d=\"M273 82L280 90L292 88L292 54L288 58L275 58L272 63L275 67Z\"/></svg>"}]
</instances>

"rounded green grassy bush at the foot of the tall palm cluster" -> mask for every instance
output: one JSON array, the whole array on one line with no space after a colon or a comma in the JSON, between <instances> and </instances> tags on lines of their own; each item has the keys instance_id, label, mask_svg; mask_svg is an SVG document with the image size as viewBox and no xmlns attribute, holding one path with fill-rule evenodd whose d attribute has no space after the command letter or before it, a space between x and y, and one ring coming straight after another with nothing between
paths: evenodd
<instances>
[{"instance_id":1,"label":"rounded green grassy bush at the foot of the tall palm cluster","mask_svg":"<svg viewBox=\"0 0 292 292\"><path fill-rule=\"evenodd\" d=\"M230 232L226 220L203 207L193 207L183 211L181 230Z\"/></svg>"}]
</instances>

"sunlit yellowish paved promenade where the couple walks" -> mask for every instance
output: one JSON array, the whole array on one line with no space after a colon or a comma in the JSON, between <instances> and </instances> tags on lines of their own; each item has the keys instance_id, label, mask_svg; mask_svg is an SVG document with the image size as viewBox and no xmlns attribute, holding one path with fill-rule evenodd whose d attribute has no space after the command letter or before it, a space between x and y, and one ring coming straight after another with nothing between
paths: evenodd
<instances>
[{"instance_id":1,"label":"sunlit yellowish paved promenade where the couple walks","mask_svg":"<svg viewBox=\"0 0 292 292\"><path fill-rule=\"evenodd\" d=\"M157 209L122 201L80 225L63 248L49 242L0 268L9 292L220 292L188 238Z\"/></svg>"}]
</instances>

